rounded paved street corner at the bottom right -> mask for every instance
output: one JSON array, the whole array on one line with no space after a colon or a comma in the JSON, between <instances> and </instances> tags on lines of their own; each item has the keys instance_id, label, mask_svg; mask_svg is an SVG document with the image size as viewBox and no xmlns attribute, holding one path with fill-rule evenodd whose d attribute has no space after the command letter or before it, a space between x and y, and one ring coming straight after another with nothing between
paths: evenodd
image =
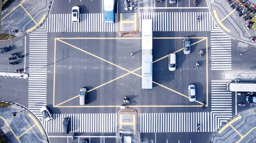
<instances>
[{"instance_id":1,"label":"rounded paved street corner at the bottom right","mask_svg":"<svg viewBox=\"0 0 256 143\"><path fill-rule=\"evenodd\" d=\"M255 110L249 110L233 117L215 132L212 143L255 143L255 120Z\"/></svg>"}]
</instances>

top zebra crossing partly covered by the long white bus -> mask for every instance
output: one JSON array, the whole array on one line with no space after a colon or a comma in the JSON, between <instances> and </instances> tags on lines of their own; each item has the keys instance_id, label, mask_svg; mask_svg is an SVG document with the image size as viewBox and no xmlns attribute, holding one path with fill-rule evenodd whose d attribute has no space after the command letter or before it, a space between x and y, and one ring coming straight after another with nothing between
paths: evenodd
<instances>
[{"instance_id":1,"label":"top zebra crossing partly covered by the long white bus","mask_svg":"<svg viewBox=\"0 0 256 143\"><path fill-rule=\"evenodd\" d=\"M143 19L153 20L153 31L211 31L214 23L209 12L140 12L140 31Z\"/></svg>"}]
</instances>

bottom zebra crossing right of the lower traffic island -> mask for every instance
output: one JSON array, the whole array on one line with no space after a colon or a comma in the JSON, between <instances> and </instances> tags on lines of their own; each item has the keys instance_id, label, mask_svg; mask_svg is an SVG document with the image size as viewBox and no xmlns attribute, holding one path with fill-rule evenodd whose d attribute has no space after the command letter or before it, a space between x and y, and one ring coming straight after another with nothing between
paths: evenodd
<instances>
[{"instance_id":1,"label":"bottom zebra crossing right of the lower traffic island","mask_svg":"<svg viewBox=\"0 0 256 143\"><path fill-rule=\"evenodd\" d=\"M140 113L140 132L212 132L212 119L210 112Z\"/></svg>"}]
</instances>

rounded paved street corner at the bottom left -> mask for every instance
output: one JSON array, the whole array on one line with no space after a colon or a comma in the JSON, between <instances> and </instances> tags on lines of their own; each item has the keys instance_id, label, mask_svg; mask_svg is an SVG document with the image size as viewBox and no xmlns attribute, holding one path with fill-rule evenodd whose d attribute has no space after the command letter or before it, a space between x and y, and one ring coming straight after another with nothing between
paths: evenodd
<instances>
[{"instance_id":1,"label":"rounded paved street corner at the bottom left","mask_svg":"<svg viewBox=\"0 0 256 143\"><path fill-rule=\"evenodd\" d=\"M4 104L3 104L4 103ZM3 107L4 105L5 107ZM47 134L39 120L25 107L1 101L1 133L10 143L47 143Z\"/></svg>"}]
</instances>

